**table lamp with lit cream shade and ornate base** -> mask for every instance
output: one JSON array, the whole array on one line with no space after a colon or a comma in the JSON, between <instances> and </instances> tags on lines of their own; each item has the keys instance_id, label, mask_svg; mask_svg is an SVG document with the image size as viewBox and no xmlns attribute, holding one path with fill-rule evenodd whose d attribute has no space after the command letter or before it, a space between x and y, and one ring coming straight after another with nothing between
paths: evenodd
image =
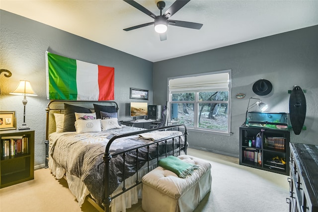
<instances>
[{"instance_id":1,"label":"table lamp with lit cream shade and ornate base","mask_svg":"<svg viewBox=\"0 0 318 212\"><path fill-rule=\"evenodd\" d=\"M26 103L28 103L28 101L26 100L26 96L37 96L31 87L30 81L25 80L25 79L20 80L19 84L16 86L16 88L10 94L24 96L24 98L22 100L22 103L24 105L23 124L21 127L19 127L19 130L30 129L25 123L25 105L26 105Z\"/></svg>"}]
</instances>

